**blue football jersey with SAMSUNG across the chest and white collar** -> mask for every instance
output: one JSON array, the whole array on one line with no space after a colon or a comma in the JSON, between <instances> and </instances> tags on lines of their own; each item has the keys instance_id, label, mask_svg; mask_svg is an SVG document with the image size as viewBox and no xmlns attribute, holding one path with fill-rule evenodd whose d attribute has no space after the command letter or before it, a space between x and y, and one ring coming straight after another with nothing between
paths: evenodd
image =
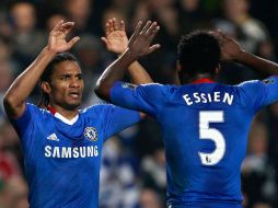
<instances>
[{"instance_id":1,"label":"blue football jersey with SAMSUNG across the chest and white collar","mask_svg":"<svg viewBox=\"0 0 278 208\"><path fill-rule=\"evenodd\" d=\"M138 112L111 104L65 123L35 105L11 119L22 142L31 208L97 208L103 142L139 122Z\"/></svg>"}]
</instances>

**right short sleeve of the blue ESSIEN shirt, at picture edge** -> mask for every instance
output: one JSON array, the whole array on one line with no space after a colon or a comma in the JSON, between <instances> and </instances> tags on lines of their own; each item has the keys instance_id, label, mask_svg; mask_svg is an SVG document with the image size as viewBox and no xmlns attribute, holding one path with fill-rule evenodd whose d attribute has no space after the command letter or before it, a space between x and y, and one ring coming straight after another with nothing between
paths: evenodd
<instances>
[{"instance_id":1,"label":"right short sleeve of the blue ESSIEN shirt, at picture edge","mask_svg":"<svg viewBox=\"0 0 278 208\"><path fill-rule=\"evenodd\" d=\"M278 101L278 77L243 82L240 86L246 94L245 103L253 106L255 112Z\"/></svg>"}]
</instances>

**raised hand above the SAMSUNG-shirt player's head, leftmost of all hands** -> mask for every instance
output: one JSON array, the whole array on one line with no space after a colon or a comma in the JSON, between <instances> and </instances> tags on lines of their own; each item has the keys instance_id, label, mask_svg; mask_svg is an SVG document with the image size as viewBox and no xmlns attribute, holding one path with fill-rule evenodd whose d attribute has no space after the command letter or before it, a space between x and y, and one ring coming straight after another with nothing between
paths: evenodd
<instances>
[{"instance_id":1,"label":"raised hand above the SAMSUNG-shirt player's head, leftmost of all hands","mask_svg":"<svg viewBox=\"0 0 278 208\"><path fill-rule=\"evenodd\" d=\"M80 39L80 37L76 36L69 42L66 41L67 35L73 26L73 22L63 22L61 20L50 32L47 48L54 53L69 50Z\"/></svg>"}]
</instances>

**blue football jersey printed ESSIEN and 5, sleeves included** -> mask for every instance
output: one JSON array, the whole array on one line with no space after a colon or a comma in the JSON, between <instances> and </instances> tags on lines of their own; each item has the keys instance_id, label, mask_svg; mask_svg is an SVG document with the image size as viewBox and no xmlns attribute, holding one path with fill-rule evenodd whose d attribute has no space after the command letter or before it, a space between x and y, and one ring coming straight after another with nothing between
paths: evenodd
<instances>
[{"instance_id":1,"label":"blue football jersey printed ESSIEN and 5, sleeves included","mask_svg":"<svg viewBox=\"0 0 278 208\"><path fill-rule=\"evenodd\" d=\"M241 207L241 164L256 112L278 100L278 78L239 85L117 82L113 103L146 112L161 126L172 208Z\"/></svg>"}]
</instances>

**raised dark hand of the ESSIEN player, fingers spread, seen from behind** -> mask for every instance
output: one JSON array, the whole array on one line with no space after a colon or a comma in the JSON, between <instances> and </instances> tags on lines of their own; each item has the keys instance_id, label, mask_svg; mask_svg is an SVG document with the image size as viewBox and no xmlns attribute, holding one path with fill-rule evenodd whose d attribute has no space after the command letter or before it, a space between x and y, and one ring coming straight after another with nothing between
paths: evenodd
<instances>
[{"instance_id":1,"label":"raised dark hand of the ESSIEN player, fingers spread, seen from behind","mask_svg":"<svg viewBox=\"0 0 278 208\"><path fill-rule=\"evenodd\" d=\"M158 48L160 48L159 44L154 44L151 46L151 42L160 30L160 26L157 22L148 21L146 25L142 27L142 22L139 21L135 33L130 37L128 42L129 51L135 57L144 56L153 53Z\"/></svg>"}]
</instances>

